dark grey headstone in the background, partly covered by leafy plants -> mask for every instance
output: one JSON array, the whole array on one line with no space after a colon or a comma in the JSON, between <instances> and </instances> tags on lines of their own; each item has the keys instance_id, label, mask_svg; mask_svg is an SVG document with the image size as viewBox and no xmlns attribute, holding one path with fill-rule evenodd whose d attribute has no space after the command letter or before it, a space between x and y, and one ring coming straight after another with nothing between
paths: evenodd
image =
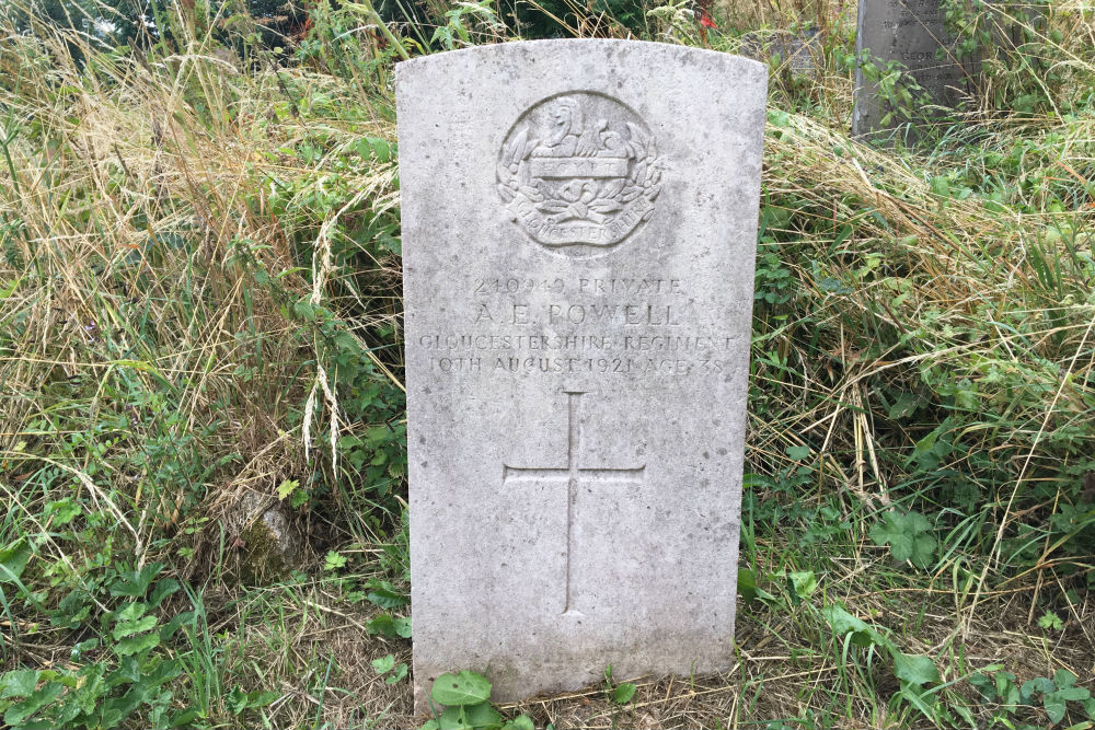
<instances>
[{"instance_id":1,"label":"dark grey headstone in the background, partly covered by leafy plants","mask_svg":"<svg viewBox=\"0 0 1095 730\"><path fill-rule=\"evenodd\" d=\"M866 50L880 67L900 61L929 99L944 108L957 108L976 91L981 73L980 58L963 56L947 32L940 0L860 0L855 49ZM915 112L926 113L923 108ZM852 134L888 134L900 119L884 124L886 115L878 89L857 68Z\"/></svg>"}]
</instances>

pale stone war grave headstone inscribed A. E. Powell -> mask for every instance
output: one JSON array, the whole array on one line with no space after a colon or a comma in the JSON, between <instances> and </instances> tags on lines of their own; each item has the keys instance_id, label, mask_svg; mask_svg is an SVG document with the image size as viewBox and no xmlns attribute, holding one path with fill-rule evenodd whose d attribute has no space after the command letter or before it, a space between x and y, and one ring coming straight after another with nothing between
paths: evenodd
<instances>
[{"instance_id":1,"label":"pale stone war grave headstone inscribed A. E. Powell","mask_svg":"<svg viewBox=\"0 0 1095 730\"><path fill-rule=\"evenodd\" d=\"M765 86L624 40L397 66L419 709L731 665Z\"/></svg>"}]
</instances>

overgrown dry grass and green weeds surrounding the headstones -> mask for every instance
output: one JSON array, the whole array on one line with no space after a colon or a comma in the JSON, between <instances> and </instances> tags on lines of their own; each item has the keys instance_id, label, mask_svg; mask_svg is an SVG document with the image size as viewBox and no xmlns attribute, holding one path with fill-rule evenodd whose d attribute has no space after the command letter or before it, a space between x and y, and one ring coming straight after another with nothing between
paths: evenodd
<instances>
[{"instance_id":1,"label":"overgrown dry grass and green weeds surrounding the headstones","mask_svg":"<svg viewBox=\"0 0 1095 730\"><path fill-rule=\"evenodd\" d=\"M771 66L739 652L462 727L1093 727L1090 3L944 0L986 76L932 111L871 67L909 148L849 137L848 0L23 2L0 7L5 725L427 719L392 67L607 36ZM807 28L795 70L781 34Z\"/></svg>"}]
</instances>

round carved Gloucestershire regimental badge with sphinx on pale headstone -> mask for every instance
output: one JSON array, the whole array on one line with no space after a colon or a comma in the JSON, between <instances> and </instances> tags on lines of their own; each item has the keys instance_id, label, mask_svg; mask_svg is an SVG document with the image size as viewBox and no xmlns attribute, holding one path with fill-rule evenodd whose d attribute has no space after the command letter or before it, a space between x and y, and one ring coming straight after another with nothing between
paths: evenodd
<instances>
[{"instance_id":1,"label":"round carved Gloucestershire regimental badge with sphinx on pale headstone","mask_svg":"<svg viewBox=\"0 0 1095 730\"><path fill-rule=\"evenodd\" d=\"M592 92L525 112L498 155L498 194L537 243L574 256L607 251L654 215L661 165L646 124Z\"/></svg>"}]
</instances>

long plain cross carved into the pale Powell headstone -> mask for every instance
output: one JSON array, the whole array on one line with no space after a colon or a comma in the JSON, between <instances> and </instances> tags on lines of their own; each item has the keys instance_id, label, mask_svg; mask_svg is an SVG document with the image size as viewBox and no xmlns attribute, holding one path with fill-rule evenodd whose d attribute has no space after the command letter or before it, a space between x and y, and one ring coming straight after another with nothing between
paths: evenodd
<instances>
[{"instance_id":1,"label":"long plain cross carved into the pale Powell headstone","mask_svg":"<svg viewBox=\"0 0 1095 730\"><path fill-rule=\"evenodd\" d=\"M578 456L581 452L581 421L578 413L581 404L581 391L564 391L567 396L567 443L566 443L566 466L560 468L551 467L523 467L509 466L503 464L502 482L504 485L511 483L530 482L566 482L566 602L563 605L563 613L569 613L572 609L572 560L570 554L574 548L574 505L578 498L578 486L581 484L642 484L646 465L634 468L592 468L578 465Z\"/></svg>"}]
</instances>

